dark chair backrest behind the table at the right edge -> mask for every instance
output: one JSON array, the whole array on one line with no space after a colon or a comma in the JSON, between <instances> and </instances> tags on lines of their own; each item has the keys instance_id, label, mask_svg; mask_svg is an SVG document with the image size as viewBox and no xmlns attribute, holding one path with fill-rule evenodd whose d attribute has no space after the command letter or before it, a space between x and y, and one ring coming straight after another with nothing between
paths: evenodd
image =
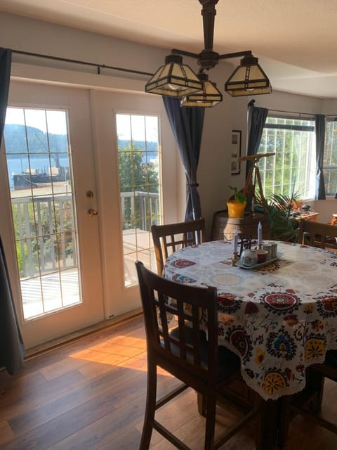
<instances>
[{"instance_id":1,"label":"dark chair backrest behind the table at the right edge","mask_svg":"<svg viewBox=\"0 0 337 450\"><path fill-rule=\"evenodd\" d=\"M337 249L337 226L302 219L298 242L319 248Z\"/></svg>"}]
</instances>

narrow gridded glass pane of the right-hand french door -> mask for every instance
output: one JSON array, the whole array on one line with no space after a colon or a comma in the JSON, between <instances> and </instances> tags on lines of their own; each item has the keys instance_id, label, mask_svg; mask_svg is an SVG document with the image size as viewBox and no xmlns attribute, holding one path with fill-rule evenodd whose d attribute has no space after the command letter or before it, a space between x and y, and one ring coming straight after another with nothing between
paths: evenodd
<instances>
[{"instance_id":1,"label":"narrow gridded glass pane of the right-hand french door","mask_svg":"<svg viewBox=\"0 0 337 450\"><path fill-rule=\"evenodd\" d=\"M151 225L161 223L159 117L117 114L124 285L137 283L135 261L156 264Z\"/></svg>"}]
</instances>

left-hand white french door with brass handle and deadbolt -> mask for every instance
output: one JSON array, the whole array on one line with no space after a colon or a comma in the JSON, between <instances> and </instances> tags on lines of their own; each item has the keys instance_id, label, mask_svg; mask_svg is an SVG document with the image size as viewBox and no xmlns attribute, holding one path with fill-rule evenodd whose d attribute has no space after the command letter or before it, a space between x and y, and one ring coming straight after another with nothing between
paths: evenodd
<instances>
[{"instance_id":1,"label":"left-hand white french door with brass handle and deadbolt","mask_svg":"<svg viewBox=\"0 0 337 450\"><path fill-rule=\"evenodd\" d=\"M26 347L104 319L86 90L12 82L0 231Z\"/></svg>"}]
</instances>

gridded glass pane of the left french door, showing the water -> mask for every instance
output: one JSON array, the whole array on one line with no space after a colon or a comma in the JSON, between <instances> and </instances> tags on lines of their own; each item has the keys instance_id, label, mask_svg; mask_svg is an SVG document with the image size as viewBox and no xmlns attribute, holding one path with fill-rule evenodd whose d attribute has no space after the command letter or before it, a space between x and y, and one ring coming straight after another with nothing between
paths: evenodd
<instances>
[{"instance_id":1,"label":"gridded glass pane of the left french door, showing the water","mask_svg":"<svg viewBox=\"0 0 337 450\"><path fill-rule=\"evenodd\" d=\"M4 143L24 319L79 304L67 112L8 108Z\"/></svg>"}]
</instances>

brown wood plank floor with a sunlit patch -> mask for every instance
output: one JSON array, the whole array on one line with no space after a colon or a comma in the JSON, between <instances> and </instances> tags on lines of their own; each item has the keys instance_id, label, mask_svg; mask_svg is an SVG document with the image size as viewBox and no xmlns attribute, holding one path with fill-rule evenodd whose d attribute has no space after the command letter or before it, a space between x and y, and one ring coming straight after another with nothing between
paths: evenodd
<instances>
[{"instance_id":1,"label":"brown wood plank floor with a sunlit patch","mask_svg":"<svg viewBox=\"0 0 337 450\"><path fill-rule=\"evenodd\" d=\"M143 321L136 318L30 359L15 377L0 372L1 450L138 450L146 392ZM161 393L176 380L159 376ZM337 395L326 384L323 413L336 418ZM161 411L169 428L194 450L203 449L204 418L196 394L185 392ZM234 411L222 413L220 429ZM174 447L157 432L152 450ZM254 423L223 449L253 450ZM298 416L286 450L337 449L337 437Z\"/></svg>"}]
</instances>

